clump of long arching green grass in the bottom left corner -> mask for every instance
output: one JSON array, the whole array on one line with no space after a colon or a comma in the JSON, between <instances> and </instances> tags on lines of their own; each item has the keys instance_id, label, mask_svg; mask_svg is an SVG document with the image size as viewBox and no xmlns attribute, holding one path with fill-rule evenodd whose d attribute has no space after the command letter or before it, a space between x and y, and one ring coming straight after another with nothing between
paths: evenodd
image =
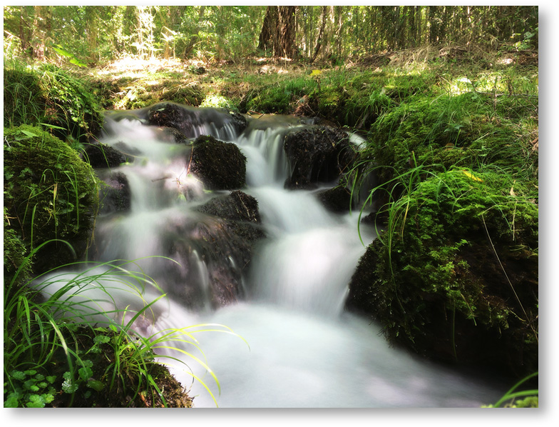
<instances>
[{"instance_id":1,"label":"clump of long arching green grass in the bottom left corner","mask_svg":"<svg viewBox=\"0 0 559 427\"><path fill-rule=\"evenodd\" d=\"M183 366L215 401L188 363L202 366L219 389L195 334L219 331L236 336L230 328L200 324L140 336L133 331L133 323L141 318L153 320L153 306L165 295L151 278L134 269L133 261L99 263L81 273L50 271L31 287L17 286L19 273L31 256L5 285L4 406L43 407L55 398L67 406L73 405L74 398L102 402L99 393L109 393L121 402L127 395L134 401L140 393L163 398L151 375L156 353L162 349L177 355L161 356L168 360L164 363ZM65 266L66 270L84 267L83 263ZM160 293L153 301L143 296L148 287ZM92 289L96 291L90 294ZM119 308L114 299L118 293L136 301L135 308ZM66 398L57 397L61 394ZM164 398L163 402L166 405Z\"/></svg>"}]
</instances>

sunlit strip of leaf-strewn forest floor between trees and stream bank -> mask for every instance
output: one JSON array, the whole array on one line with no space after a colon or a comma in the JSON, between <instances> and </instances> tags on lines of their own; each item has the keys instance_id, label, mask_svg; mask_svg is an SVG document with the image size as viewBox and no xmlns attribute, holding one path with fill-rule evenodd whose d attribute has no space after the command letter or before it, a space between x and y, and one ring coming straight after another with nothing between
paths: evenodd
<instances>
[{"instance_id":1,"label":"sunlit strip of leaf-strewn forest floor between trees and stream bank","mask_svg":"<svg viewBox=\"0 0 559 427\"><path fill-rule=\"evenodd\" d=\"M247 111L242 110L246 110L247 96L254 97L255 91L271 85L284 86L289 81L306 79L318 84L322 81L324 87L324 83L332 83L337 76L342 76L342 81L359 74L386 76L386 80L390 75L422 74L429 79L433 75L476 75L480 71L510 66L537 69L538 51L518 51L512 47L487 51L478 46L424 46L374 54L343 65L256 56L237 62L125 57L93 69L78 69L76 73L91 81L94 95L107 110L138 109L160 101L175 101L191 106L240 109L245 113ZM363 89L367 89L366 85ZM297 96L295 92L293 98ZM363 96L367 96L367 91L363 92ZM286 108L279 105L277 112L305 112L300 102L297 104L299 99L290 101ZM306 112L320 111L307 109Z\"/></svg>"}]
</instances>

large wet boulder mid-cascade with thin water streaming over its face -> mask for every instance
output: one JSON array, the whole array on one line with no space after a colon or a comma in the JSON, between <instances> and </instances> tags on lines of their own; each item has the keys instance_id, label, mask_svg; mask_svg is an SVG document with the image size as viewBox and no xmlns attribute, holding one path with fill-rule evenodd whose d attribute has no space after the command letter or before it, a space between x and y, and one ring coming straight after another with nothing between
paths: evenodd
<instances>
[{"instance_id":1,"label":"large wet boulder mid-cascade with thin water streaming over its face","mask_svg":"<svg viewBox=\"0 0 559 427\"><path fill-rule=\"evenodd\" d=\"M244 298L243 277L255 245L265 238L257 201L241 191L217 196L190 216L188 223L169 228L165 247L178 264L165 267L158 280L186 306L226 306Z\"/></svg>"}]
</instances>

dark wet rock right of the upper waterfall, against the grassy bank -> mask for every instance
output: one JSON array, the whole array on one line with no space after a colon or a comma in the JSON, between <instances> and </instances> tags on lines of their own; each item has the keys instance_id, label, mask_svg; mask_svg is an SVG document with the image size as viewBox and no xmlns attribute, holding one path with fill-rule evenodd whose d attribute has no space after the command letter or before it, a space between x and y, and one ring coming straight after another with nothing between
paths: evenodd
<instances>
[{"instance_id":1,"label":"dark wet rock right of the upper waterfall, against the grassy bank","mask_svg":"<svg viewBox=\"0 0 559 427\"><path fill-rule=\"evenodd\" d=\"M312 126L285 137L284 151L292 169L286 189L312 189L346 171L354 160L349 137L341 129Z\"/></svg>"}]
</instances>

